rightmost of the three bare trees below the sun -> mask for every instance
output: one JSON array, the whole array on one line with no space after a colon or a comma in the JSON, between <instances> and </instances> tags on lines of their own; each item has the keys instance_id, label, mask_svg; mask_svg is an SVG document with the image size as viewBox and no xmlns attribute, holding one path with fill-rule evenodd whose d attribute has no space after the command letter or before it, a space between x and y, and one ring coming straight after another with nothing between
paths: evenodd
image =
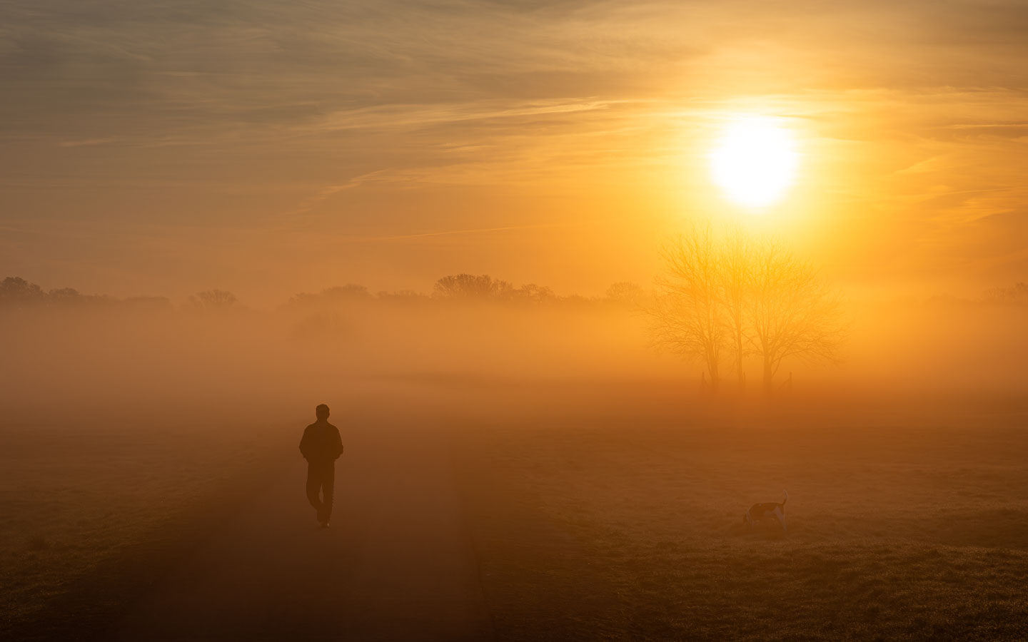
<instances>
[{"instance_id":1,"label":"rightmost of the three bare trees below the sun","mask_svg":"<svg viewBox=\"0 0 1028 642\"><path fill-rule=\"evenodd\" d=\"M842 301L810 264L775 241L756 244L746 297L750 341L764 362L764 391L782 361L836 363L845 335Z\"/></svg>"}]
</instances>

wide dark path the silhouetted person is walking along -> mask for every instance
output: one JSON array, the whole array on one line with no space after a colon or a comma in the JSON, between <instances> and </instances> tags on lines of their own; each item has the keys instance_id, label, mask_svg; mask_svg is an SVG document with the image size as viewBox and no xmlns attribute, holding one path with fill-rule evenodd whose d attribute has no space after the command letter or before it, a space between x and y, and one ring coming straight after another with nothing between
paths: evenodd
<instances>
[{"instance_id":1,"label":"wide dark path the silhouetted person is walking along","mask_svg":"<svg viewBox=\"0 0 1028 642\"><path fill-rule=\"evenodd\" d=\"M297 453L113 638L490 639L445 449L427 435L341 431L330 529L316 528Z\"/></svg>"}]
</instances>

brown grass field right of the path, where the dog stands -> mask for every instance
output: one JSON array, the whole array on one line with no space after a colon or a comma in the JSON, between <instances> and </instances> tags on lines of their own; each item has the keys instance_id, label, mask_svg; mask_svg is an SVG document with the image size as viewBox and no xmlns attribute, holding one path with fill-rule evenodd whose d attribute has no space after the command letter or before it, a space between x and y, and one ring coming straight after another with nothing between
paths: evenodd
<instances>
[{"instance_id":1,"label":"brown grass field right of the path, where the dog stands","mask_svg":"<svg viewBox=\"0 0 1028 642\"><path fill-rule=\"evenodd\" d=\"M461 460L499 637L1026 639L1024 410L483 419ZM788 533L747 532L783 489Z\"/></svg>"}]
</instances>

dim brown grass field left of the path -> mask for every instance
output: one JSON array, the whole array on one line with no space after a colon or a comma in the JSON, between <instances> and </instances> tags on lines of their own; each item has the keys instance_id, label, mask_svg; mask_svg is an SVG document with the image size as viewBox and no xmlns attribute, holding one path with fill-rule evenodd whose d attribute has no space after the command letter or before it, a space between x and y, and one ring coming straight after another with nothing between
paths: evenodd
<instances>
[{"instance_id":1,"label":"dim brown grass field left of the path","mask_svg":"<svg viewBox=\"0 0 1028 642\"><path fill-rule=\"evenodd\" d=\"M155 414L8 415L0 430L0 639L102 626L203 536L201 516L259 477L271 456L266 426Z\"/></svg>"}]
</instances>

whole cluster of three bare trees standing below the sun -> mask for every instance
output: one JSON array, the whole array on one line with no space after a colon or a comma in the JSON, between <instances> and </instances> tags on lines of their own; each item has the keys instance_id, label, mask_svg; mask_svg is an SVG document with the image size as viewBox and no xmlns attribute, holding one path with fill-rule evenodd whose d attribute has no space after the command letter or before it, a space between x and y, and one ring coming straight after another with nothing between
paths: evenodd
<instances>
[{"instance_id":1,"label":"whole cluster of three bare trees standing below the sun","mask_svg":"<svg viewBox=\"0 0 1028 642\"><path fill-rule=\"evenodd\" d=\"M665 248L663 259L648 310L653 341L704 364L710 392L721 384L723 351L732 355L740 392L748 354L763 361L766 392L785 360L838 361L842 302L816 270L779 243L740 228L715 236L706 227Z\"/></svg>"}]
</instances>

